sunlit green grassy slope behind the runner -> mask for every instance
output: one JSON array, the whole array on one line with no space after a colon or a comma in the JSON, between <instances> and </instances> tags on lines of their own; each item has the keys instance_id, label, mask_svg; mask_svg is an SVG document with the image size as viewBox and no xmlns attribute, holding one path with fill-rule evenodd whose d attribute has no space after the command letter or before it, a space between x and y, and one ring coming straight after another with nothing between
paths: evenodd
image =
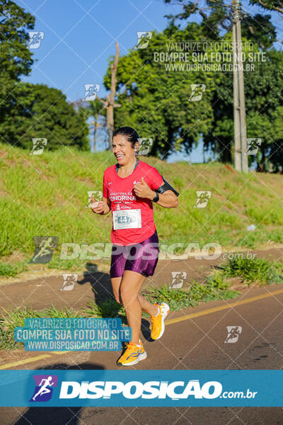
<instances>
[{"instance_id":1,"label":"sunlit green grassy slope behind the runner","mask_svg":"<svg viewBox=\"0 0 283 425\"><path fill-rule=\"evenodd\" d=\"M199 242L201 248L218 242L238 251L267 241L283 243L283 176L241 175L218 163L189 166L140 159L155 166L180 192L179 208L154 207L160 242ZM31 258L36 235L58 237L51 266L56 266L62 242L110 242L111 215L95 216L85 205L87 191L102 190L103 171L112 164L110 152L68 148L36 156L0 145L2 259L15 252L20 259ZM206 208L193 208L196 191L212 192ZM246 231L250 224L257 226L255 232Z\"/></svg>"}]
</instances>

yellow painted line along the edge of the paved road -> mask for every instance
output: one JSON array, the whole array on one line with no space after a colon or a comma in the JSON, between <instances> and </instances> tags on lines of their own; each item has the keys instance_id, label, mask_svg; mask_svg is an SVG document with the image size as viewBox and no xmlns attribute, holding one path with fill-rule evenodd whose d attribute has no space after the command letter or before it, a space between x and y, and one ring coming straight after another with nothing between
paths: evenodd
<instances>
[{"instance_id":1,"label":"yellow painted line along the edge of the paved road","mask_svg":"<svg viewBox=\"0 0 283 425\"><path fill-rule=\"evenodd\" d=\"M272 297L273 295L283 293L283 289L273 290L272 293L256 295L255 297L246 298L246 300L229 302L226 305L219 305L219 307L208 308L207 310L202 310L201 312L186 314L182 317L176 317L175 319L166 320L165 324L173 324L178 322L183 322L184 320L191 319L192 317L204 316L205 314L211 314L214 312L220 312L221 310L227 310L228 308L235 307L236 305L248 304L248 302L262 300L263 298ZM53 354L64 354L70 353L70 351L50 351ZM12 368L13 366L23 365L25 363L31 363L33 361L41 360L42 358L52 357L50 354L42 354L41 356L25 358L24 360L14 361L13 363L6 363L4 365L0 365L0 369Z\"/></svg>"}]
</instances>

